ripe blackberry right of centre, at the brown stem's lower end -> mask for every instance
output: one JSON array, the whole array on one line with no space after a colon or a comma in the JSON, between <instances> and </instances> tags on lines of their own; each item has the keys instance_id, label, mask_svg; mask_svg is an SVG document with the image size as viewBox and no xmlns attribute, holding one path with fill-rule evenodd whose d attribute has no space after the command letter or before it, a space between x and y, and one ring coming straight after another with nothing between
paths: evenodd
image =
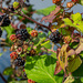
<instances>
[{"instance_id":1,"label":"ripe blackberry right of centre, at the brown stem's lower end","mask_svg":"<svg viewBox=\"0 0 83 83\"><path fill-rule=\"evenodd\" d=\"M54 43L58 43L60 40L61 40L61 35L60 35L60 32L59 31L55 31L55 32L52 32L50 34L50 40Z\"/></svg>"}]
</instances>

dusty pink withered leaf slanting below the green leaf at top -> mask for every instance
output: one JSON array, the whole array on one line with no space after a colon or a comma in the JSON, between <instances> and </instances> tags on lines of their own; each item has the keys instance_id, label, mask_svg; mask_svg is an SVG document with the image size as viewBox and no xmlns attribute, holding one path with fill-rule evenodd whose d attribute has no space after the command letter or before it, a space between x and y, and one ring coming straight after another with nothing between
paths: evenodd
<instances>
[{"instance_id":1,"label":"dusty pink withered leaf slanting below the green leaf at top","mask_svg":"<svg viewBox=\"0 0 83 83\"><path fill-rule=\"evenodd\" d=\"M51 22L51 23L52 23L53 19L56 17L55 14L56 14L60 10L61 10L61 8L60 8L60 6L58 6L58 7L55 8L55 10L52 11L49 15L43 17L42 20L41 20L41 22L44 21L44 22Z\"/></svg>"}]
</instances>

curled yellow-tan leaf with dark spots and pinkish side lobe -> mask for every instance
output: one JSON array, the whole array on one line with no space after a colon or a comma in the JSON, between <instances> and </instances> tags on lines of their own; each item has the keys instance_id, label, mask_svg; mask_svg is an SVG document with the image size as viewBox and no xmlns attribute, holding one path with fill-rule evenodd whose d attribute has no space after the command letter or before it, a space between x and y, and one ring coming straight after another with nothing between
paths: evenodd
<instances>
[{"instance_id":1,"label":"curled yellow-tan leaf with dark spots and pinkish side lobe","mask_svg":"<svg viewBox=\"0 0 83 83\"><path fill-rule=\"evenodd\" d=\"M73 49L70 49L71 48L69 46L69 44L63 44L58 55L59 63L61 68L64 70L64 72L68 65L68 56L75 54L75 51Z\"/></svg>"}]
</instances>

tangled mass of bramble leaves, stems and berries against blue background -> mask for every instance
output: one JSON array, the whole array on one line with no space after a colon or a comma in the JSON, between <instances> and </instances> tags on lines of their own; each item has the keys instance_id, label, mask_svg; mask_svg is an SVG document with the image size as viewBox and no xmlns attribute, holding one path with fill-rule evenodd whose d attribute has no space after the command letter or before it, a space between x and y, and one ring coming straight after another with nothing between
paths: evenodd
<instances>
[{"instance_id":1,"label":"tangled mass of bramble leaves, stems and berries against blue background","mask_svg":"<svg viewBox=\"0 0 83 83\"><path fill-rule=\"evenodd\" d=\"M62 0L52 1L54 6L35 11L32 9L33 6L27 6L25 1L21 0L18 1L19 8L13 8L14 11L9 8L0 8L1 18L6 12L9 15L15 14L19 20L17 24L10 23L8 27L1 27L7 31L6 42L12 51L10 53L11 68L3 71L4 75L10 75L9 83L83 82L83 79L80 77L83 75L83 13L66 12L76 3L83 4L83 0L68 2L68 10L63 7ZM15 7L14 3L13 6ZM33 20L34 12L44 14L41 22L49 22L49 25ZM19 27L20 23L23 24ZM34 29L27 27L27 23L35 23ZM48 32L43 31L45 29ZM55 37L54 33L56 33ZM56 40L56 38L61 39ZM20 81L15 81L17 77Z\"/></svg>"}]
</instances>

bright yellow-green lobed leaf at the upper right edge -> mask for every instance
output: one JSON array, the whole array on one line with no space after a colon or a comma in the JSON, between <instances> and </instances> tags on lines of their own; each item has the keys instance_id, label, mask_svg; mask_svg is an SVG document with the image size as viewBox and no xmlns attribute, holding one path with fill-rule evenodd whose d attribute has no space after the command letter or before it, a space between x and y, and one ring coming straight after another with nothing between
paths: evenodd
<instances>
[{"instance_id":1,"label":"bright yellow-green lobed leaf at the upper right edge","mask_svg":"<svg viewBox=\"0 0 83 83\"><path fill-rule=\"evenodd\" d=\"M65 18L63 19L64 23L66 25L74 27L75 29L77 29L79 31L83 33L83 21L81 20L82 15L80 13L75 13L75 14L72 14L71 17L73 22L69 18Z\"/></svg>"}]
</instances>

